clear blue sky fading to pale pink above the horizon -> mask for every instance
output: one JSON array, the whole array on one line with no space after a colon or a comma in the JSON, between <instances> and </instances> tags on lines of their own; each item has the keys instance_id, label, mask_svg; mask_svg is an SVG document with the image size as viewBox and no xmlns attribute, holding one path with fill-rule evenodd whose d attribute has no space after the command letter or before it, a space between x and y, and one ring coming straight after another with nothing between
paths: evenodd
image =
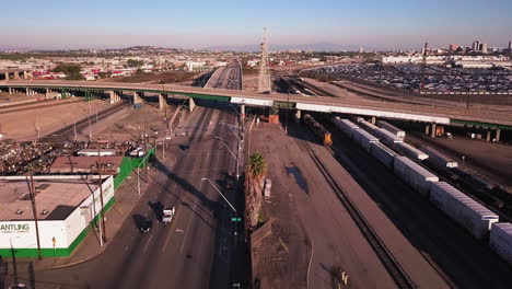
<instances>
[{"instance_id":1,"label":"clear blue sky fading to pale pink above the horizon","mask_svg":"<svg viewBox=\"0 0 512 289\"><path fill-rule=\"evenodd\" d=\"M202 48L328 42L419 48L512 38L511 0L0 0L0 46Z\"/></svg>"}]
</instances>

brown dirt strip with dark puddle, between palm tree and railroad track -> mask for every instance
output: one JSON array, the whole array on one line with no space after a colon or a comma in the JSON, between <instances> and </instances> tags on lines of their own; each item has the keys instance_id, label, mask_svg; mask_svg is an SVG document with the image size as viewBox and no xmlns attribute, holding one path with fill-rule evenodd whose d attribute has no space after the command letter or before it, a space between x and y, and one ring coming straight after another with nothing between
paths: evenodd
<instances>
[{"instance_id":1,"label":"brown dirt strip with dark puddle, between palm tree and railroad track","mask_svg":"<svg viewBox=\"0 0 512 289\"><path fill-rule=\"evenodd\" d=\"M395 288L311 158L300 157L298 141L269 124L254 126L249 137L249 153L264 154L272 182L263 205L272 234L253 247L253 277L261 288L338 288L342 269L350 288Z\"/></svg>"}]
</instances>

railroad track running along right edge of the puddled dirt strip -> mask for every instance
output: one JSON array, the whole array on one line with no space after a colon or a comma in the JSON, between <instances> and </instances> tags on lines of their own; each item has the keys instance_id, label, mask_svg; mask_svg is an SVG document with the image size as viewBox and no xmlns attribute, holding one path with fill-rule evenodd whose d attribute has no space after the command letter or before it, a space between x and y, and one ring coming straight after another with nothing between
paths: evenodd
<instances>
[{"instance_id":1,"label":"railroad track running along right edge of the puddled dirt strip","mask_svg":"<svg viewBox=\"0 0 512 289\"><path fill-rule=\"evenodd\" d=\"M318 167L322 175L324 175L325 180L327 181L329 186L333 188L333 190L336 193L339 200L341 201L341 204L345 206L348 213L350 215L350 217L353 219L358 228L361 230L362 234L368 240L373 251L379 256L382 264L384 265L386 270L392 276L397 288L400 288L400 289L416 288L416 285L412 282L409 276L404 271L404 269L395 259L393 254L389 252L386 245L381 241L381 239L375 233L375 231L370 226L370 223L366 221L364 216L359 211L356 205L350 200L347 193L341 188L338 182L336 182L336 180L333 177L328 169L323 164L323 162L319 160L319 158L316 155L316 153L313 151L310 144L305 140L300 140L300 142L302 142L304 149L307 151L307 154L310 154L311 159L313 160L315 165Z\"/></svg>"}]
</instances>

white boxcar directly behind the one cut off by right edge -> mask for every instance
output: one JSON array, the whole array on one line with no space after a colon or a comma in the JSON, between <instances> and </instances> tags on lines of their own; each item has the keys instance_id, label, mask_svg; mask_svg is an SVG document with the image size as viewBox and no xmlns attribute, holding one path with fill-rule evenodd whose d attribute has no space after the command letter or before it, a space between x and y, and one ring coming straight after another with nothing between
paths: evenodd
<instances>
[{"instance_id":1,"label":"white boxcar directly behind the one cut off by right edge","mask_svg":"<svg viewBox=\"0 0 512 289\"><path fill-rule=\"evenodd\" d=\"M499 219L498 215L444 182L431 183L430 201L476 239L487 236Z\"/></svg>"}]
</instances>

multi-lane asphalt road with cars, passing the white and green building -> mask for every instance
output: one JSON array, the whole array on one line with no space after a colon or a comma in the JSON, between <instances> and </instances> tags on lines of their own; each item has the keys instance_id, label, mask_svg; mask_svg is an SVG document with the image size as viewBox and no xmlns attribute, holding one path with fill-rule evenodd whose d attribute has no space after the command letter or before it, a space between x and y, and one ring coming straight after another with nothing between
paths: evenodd
<instances>
[{"instance_id":1,"label":"multi-lane asphalt road with cars, passing the white and green building","mask_svg":"<svg viewBox=\"0 0 512 289\"><path fill-rule=\"evenodd\" d=\"M153 221L150 232L140 233L128 218L96 258L36 273L38 288L231 288L234 212L208 181L201 181L208 177L233 201L234 192L222 184L235 162L214 139L219 136L234 150L236 138L228 124L234 125L236 115L230 109L196 107L177 130L188 136L167 143L166 160L156 164L167 175L165 183L151 184L132 211ZM174 220L160 223L149 201L175 206Z\"/></svg>"}]
</instances>

